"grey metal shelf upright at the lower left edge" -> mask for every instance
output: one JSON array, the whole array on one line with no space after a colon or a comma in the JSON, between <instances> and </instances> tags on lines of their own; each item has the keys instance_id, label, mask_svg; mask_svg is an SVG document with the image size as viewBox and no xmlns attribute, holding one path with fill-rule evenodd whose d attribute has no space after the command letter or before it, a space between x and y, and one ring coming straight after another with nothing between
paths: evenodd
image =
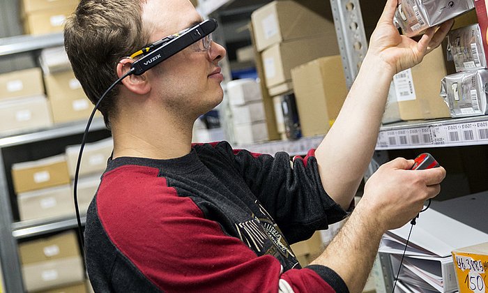
<instances>
[{"instance_id":1,"label":"grey metal shelf upright at the lower left edge","mask_svg":"<svg viewBox=\"0 0 488 293\"><path fill-rule=\"evenodd\" d=\"M5 292L24 292L17 241L12 234L13 216L6 182L0 148L0 262L5 282L4 289Z\"/></svg>"}]
</instances>

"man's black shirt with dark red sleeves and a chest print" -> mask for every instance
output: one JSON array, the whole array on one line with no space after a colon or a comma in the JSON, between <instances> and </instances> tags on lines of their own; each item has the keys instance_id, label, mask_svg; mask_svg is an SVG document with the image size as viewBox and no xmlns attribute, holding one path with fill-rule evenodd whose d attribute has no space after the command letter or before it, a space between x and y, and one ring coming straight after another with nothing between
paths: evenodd
<instances>
[{"instance_id":1,"label":"man's black shirt with dark red sleeves and a chest print","mask_svg":"<svg viewBox=\"0 0 488 293\"><path fill-rule=\"evenodd\" d=\"M96 292L348 292L289 246L345 216L313 150L292 164L227 142L116 158L87 214L86 265Z\"/></svg>"}]
</instances>

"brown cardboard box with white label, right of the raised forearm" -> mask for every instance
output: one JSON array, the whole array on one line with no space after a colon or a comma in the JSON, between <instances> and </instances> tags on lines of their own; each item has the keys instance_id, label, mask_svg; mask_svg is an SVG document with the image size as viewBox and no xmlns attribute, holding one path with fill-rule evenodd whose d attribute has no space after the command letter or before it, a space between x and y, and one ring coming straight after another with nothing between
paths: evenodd
<instances>
[{"instance_id":1,"label":"brown cardboard box with white label, right of the raised forearm","mask_svg":"<svg viewBox=\"0 0 488 293\"><path fill-rule=\"evenodd\" d=\"M438 47L411 69L398 73L388 94L383 123L450 117L439 89L447 74L443 50Z\"/></svg>"}]
</instances>

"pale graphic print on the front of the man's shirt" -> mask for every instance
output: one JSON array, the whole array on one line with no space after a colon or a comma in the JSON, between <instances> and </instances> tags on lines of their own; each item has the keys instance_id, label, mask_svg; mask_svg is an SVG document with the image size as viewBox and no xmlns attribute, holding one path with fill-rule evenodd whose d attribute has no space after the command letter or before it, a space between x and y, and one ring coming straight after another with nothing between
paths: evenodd
<instances>
[{"instance_id":1,"label":"pale graphic print on the front of the man's shirt","mask_svg":"<svg viewBox=\"0 0 488 293\"><path fill-rule=\"evenodd\" d=\"M288 243L284 239L280 228L274 223L268 211L259 202L256 201L255 204L259 206L261 215L259 217L252 215L252 220L235 224L241 241L258 255L273 255L278 259L282 257L286 259L295 257L289 249ZM264 243L266 243L266 239L272 241L275 246L265 248Z\"/></svg>"}]
</instances>

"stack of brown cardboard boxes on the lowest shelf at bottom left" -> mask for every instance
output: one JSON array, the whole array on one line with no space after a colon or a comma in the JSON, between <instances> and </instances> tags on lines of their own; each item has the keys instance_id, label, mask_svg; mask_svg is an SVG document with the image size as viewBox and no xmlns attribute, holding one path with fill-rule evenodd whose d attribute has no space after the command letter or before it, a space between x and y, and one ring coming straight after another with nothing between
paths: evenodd
<instances>
[{"instance_id":1,"label":"stack of brown cardboard boxes on the lowest shelf at bottom left","mask_svg":"<svg viewBox=\"0 0 488 293\"><path fill-rule=\"evenodd\" d=\"M19 255L27 292L84 283L83 260L73 231L20 243ZM86 292L86 288L77 290Z\"/></svg>"}]
</instances>

